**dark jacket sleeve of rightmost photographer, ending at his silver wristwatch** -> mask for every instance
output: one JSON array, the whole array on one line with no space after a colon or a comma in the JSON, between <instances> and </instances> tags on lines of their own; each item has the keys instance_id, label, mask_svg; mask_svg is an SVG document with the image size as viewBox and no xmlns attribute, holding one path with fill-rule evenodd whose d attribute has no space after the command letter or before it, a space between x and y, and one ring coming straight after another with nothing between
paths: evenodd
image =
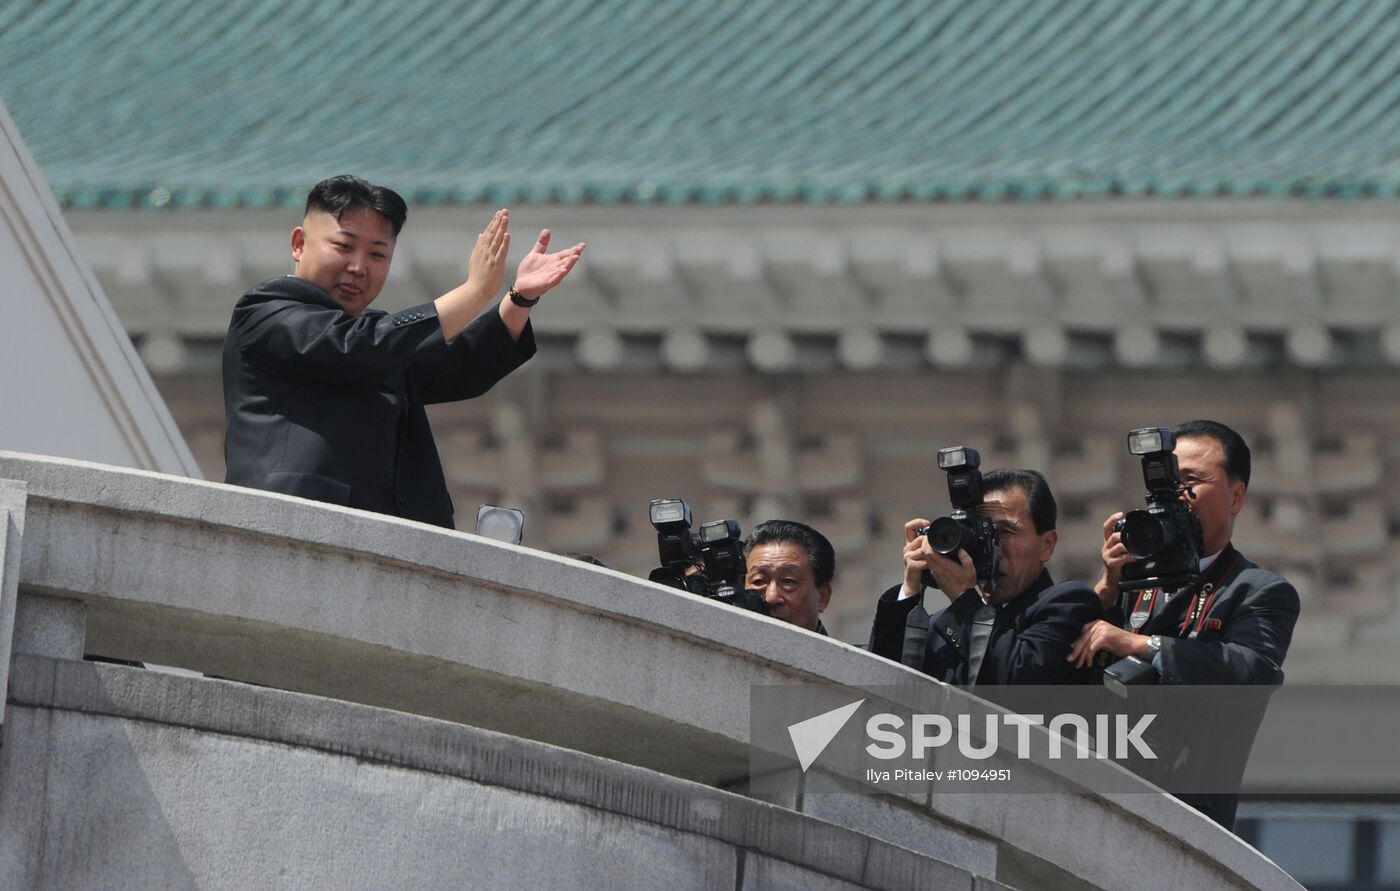
<instances>
[{"instance_id":1,"label":"dark jacket sleeve of rightmost photographer, ending at his silver wristwatch","mask_svg":"<svg viewBox=\"0 0 1400 891\"><path fill-rule=\"evenodd\" d=\"M1298 591L1260 569L1245 570L1231 588L1239 601L1219 639L1162 639L1162 684L1282 684Z\"/></svg>"}]
</instances>

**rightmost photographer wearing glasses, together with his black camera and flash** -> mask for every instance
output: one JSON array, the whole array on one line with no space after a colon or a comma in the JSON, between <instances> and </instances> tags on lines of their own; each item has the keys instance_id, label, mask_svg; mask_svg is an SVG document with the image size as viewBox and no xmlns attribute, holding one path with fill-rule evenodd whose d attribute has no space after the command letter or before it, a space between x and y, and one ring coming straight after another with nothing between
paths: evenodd
<instances>
[{"instance_id":1,"label":"rightmost photographer wearing glasses, together with his black camera and flash","mask_svg":"<svg viewBox=\"0 0 1400 891\"><path fill-rule=\"evenodd\" d=\"M1155 504L1133 514L1151 520L1148 514L1165 517L1175 509L1187 525L1172 534L1173 524L1163 521L1165 535L1137 541L1133 514L1107 518L1103 577L1095 588L1109 614L1085 626L1070 661L1086 667L1098 654L1110 654L1114 658L1107 660L1113 664L1105 679L1110 685L1282 684L1284 656L1298 621L1298 591L1231 544L1249 489L1249 446L1222 423L1193 420L1158 431L1159 453L1151 444L1133 447L1134 436L1151 438L1154 430L1134 430L1130 448L1144 455L1149 490L1154 479L1169 483L1151 496ZM1180 511L1177 500L1190 510ZM1155 527L1148 521L1140 528L1151 532ZM1151 553L1158 545L1165 556ZM1186 559L1166 555L1177 546L1186 549ZM1233 827L1236 794L1180 797L1225 828Z\"/></svg>"}]
</instances>

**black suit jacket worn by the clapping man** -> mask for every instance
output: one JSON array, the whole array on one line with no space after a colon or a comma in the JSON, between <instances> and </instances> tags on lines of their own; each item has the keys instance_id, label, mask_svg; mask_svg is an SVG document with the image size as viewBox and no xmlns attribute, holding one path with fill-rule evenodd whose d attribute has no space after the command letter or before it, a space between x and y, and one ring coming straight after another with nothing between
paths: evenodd
<instances>
[{"instance_id":1,"label":"black suit jacket worn by the clapping man","mask_svg":"<svg viewBox=\"0 0 1400 891\"><path fill-rule=\"evenodd\" d=\"M497 312L452 343L431 303L346 312L315 284L253 287L224 338L225 482L452 527L424 405L470 399L535 353Z\"/></svg>"}]
</instances>

